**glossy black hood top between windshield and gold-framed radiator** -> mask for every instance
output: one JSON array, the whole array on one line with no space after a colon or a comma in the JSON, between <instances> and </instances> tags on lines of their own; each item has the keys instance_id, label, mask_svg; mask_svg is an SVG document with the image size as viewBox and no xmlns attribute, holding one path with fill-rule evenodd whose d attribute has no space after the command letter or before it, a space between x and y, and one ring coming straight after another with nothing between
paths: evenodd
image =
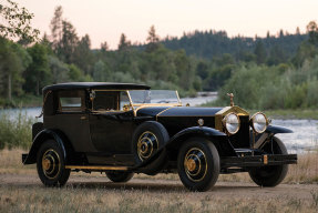
<instances>
[{"instance_id":1,"label":"glossy black hood top between windshield and gold-framed radiator","mask_svg":"<svg viewBox=\"0 0 318 213\"><path fill-rule=\"evenodd\" d=\"M147 106L137 110L137 116L203 116L215 115L223 108Z\"/></svg>"}]
</instances>

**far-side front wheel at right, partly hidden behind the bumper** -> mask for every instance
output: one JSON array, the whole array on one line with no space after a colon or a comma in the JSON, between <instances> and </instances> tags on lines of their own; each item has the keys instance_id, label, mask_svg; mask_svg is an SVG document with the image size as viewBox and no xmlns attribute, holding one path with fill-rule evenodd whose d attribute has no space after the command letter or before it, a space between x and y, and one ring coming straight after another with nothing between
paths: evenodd
<instances>
[{"instance_id":1,"label":"far-side front wheel at right, partly hidden behind the bumper","mask_svg":"<svg viewBox=\"0 0 318 213\"><path fill-rule=\"evenodd\" d=\"M266 144L264 150L266 150L268 153L271 153L271 144ZM276 136L273 138L273 152L274 154L288 154L284 143ZM248 173L250 179L257 185L273 187L278 185L285 179L287 172L288 165L284 164L255 168L252 169Z\"/></svg>"}]
</instances>

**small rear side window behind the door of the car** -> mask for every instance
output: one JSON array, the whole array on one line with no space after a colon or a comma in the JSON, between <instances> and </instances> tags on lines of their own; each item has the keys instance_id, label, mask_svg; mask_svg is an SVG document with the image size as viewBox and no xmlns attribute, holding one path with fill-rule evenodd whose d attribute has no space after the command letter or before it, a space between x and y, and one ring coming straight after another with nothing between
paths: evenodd
<instances>
[{"instance_id":1,"label":"small rear side window behind the door of the car","mask_svg":"<svg viewBox=\"0 0 318 213\"><path fill-rule=\"evenodd\" d=\"M60 91L59 111L60 112L83 112L85 110L84 91Z\"/></svg>"}]
</instances>

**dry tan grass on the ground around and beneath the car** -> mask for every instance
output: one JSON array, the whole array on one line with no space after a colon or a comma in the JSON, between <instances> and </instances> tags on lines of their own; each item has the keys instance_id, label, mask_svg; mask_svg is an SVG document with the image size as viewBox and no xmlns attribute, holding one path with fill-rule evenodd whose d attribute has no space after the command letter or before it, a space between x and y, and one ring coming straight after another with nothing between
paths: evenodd
<instances>
[{"instance_id":1,"label":"dry tan grass on the ground around and beneath the car","mask_svg":"<svg viewBox=\"0 0 318 213\"><path fill-rule=\"evenodd\" d=\"M21 150L0 152L1 175L32 174L35 166L23 166ZM299 156L298 165L291 165L286 183L312 183L318 176L318 155ZM73 174L72 174L73 175ZM76 173L75 176L89 174ZM93 173L93 176L104 176ZM147 176L139 174L134 179L178 180L177 174ZM247 174L220 175L219 181L249 182ZM230 189L230 187L229 187ZM258 189L258 187L256 187ZM248 190L247 190L248 191ZM218 192L219 193L219 192ZM223 193L223 192L220 192ZM224 192L225 193L225 192ZM230 194L230 195L229 195ZM318 191L307 199L298 196L236 196L217 195L214 192L188 192L178 184L176 189L164 186L110 187L105 184L68 184L62 189L43 187L41 184L0 184L0 212L317 212ZM275 194L275 193L274 193Z\"/></svg>"}]
</instances>

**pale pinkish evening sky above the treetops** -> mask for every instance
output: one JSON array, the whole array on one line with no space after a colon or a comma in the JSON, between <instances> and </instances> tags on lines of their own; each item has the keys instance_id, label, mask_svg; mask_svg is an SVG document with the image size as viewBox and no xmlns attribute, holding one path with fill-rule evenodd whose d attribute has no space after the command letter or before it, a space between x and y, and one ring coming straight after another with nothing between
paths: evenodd
<instances>
[{"instance_id":1,"label":"pale pinkish evening sky above the treetops","mask_svg":"<svg viewBox=\"0 0 318 213\"><path fill-rule=\"evenodd\" d=\"M195 30L225 30L229 37L265 37L283 29L306 32L318 20L317 0L16 0L34 14L33 28L50 34L58 6L79 37L89 34L92 48L104 41L116 49L121 33L145 42L151 26L160 38L182 37Z\"/></svg>"}]
</instances>

